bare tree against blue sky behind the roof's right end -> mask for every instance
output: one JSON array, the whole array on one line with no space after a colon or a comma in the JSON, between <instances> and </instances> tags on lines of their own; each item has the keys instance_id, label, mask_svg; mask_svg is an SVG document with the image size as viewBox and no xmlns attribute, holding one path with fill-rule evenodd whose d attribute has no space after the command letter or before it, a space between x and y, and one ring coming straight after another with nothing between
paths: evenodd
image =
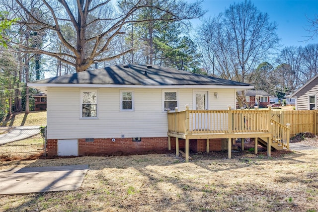
<instances>
[{"instance_id":1,"label":"bare tree against blue sky behind the roof's right end","mask_svg":"<svg viewBox=\"0 0 318 212\"><path fill-rule=\"evenodd\" d=\"M279 39L276 24L251 1L234 3L224 13L204 20L197 30L205 64L216 75L247 82ZM211 71L210 71L211 72Z\"/></svg>"}]
</instances>

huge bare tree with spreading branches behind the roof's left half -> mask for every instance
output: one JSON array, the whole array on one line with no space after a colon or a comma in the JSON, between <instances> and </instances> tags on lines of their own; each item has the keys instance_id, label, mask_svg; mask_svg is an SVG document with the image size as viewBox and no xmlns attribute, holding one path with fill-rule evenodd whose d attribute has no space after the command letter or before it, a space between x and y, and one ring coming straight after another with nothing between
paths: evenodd
<instances>
[{"instance_id":1,"label":"huge bare tree with spreading branches behind the roof's left half","mask_svg":"<svg viewBox=\"0 0 318 212\"><path fill-rule=\"evenodd\" d=\"M22 11L30 17L21 19L21 23L27 25L31 31L48 30L59 37L61 44L69 52L50 51L48 48L37 48L32 46L23 46L20 43L16 45L23 47L24 52L45 54L63 63L75 67L77 72L85 71L94 63L110 61L118 58L131 49L125 49L121 52L110 51L113 39L123 34L123 27L132 22L144 21L181 21L198 16L201 12L199 2L185 3L177 1L170 7L158 7L152 5L149 0L134 0L125 13L119 14L113 10L111 0L15 0L17 7L12 6L15 14ZM162 3L164 0L161 0ZM169 5L168 0L166 0ZM177 5L177 6L175 6ZM41 11L41 16L34 15L36 11ZM158 16L150 19L132 20L132 14L143 8L151 8L160 11ZM21 10L22 9L22 10ZM75 43L69 40L62 30L62 26L70 24L75 32ZM96 29L98 30L92 30ZM9 39L8 39L9 40ZM11 41L12 42L12 41Z\"/></svg>"}]
</instances>

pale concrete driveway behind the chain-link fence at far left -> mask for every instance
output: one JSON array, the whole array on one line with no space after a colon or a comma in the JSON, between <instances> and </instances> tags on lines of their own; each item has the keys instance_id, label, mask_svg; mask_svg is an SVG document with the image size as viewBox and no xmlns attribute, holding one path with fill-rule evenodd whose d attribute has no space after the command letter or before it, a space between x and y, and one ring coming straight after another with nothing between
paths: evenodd
<instances>
[{"instance_id":1,"label":"pale concrete driveway behind the chain-link fence at far left","mask_svg":"<svg viewBox=\"0 0 318 212\"><path fill-rule=\"evenodd\" d=\"M19 141L40 133L40 126L0 127L7 133L0 134L0 145L12 141Z\"/></svg>"}]
</instances>

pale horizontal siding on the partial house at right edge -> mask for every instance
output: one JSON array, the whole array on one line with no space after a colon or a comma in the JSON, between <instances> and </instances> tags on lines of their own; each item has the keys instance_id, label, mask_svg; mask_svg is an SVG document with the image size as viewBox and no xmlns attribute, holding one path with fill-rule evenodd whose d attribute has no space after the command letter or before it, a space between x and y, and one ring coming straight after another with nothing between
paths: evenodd
<instances>
[{"instance_id":1,"label":"pale horizontal siding on the partial house at right edge","mask_svg":"<svg viewBox=\"0 0 318 212\"><path fill-rule=\"evenodd\" d=\"M318 94L318 78L313 80L311 83L309 83L307 86L303 87L302 90L300 90L296 94L296 109L297 110L309 110L309 96L317 96ZM316 98L316 109L317 107L317 99Z\"/></svg>"}]
</instances>

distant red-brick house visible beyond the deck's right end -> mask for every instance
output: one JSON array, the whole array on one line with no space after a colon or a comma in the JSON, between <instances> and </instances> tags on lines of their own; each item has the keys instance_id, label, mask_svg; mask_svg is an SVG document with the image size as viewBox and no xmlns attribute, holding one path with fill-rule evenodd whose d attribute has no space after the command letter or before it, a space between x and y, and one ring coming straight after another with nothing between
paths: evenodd
<instances>
[{"instance_id":1,"label":"distant red-brick house visible beyond the deck's right end","mask_svg":"<svg viewBox=\"0 0 318 212\"><path fill-rule=\"evenodd\" d=\"M259 108L266 108L270 103L271 94L264 90L245 90L238 91L239 98L250 108L258 106ZM244 98L245 97L245 98Z\"/></svg>"}]
</instances>

